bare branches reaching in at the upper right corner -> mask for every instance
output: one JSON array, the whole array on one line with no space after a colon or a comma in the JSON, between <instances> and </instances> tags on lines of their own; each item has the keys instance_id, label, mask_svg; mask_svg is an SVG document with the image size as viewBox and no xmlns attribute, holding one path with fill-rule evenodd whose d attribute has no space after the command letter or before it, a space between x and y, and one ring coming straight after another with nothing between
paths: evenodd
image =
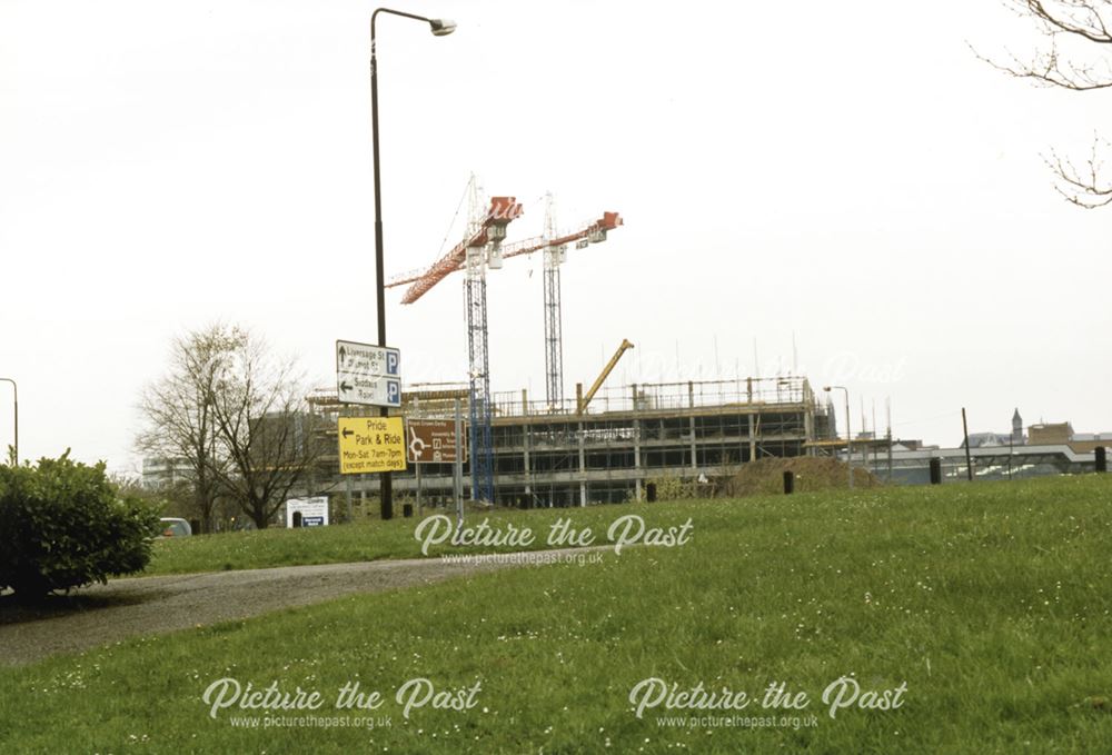
<instances>
[{"instance_id":1,"label":"bare branches reaching in at the upper right corner","mask_svg":"<svg viewBox=\"0 0 1112 755\"><path fill-rule=\"evenodd\" d=\"M1112 87L1112 0L1004 0L1004 4L1035 24L1042 44L1026 58L1012 54L1009 62L977 57L1037 85L1082 92ZM1112 202L1112 180L1103 177L1100 157L1110 147L1094 137L1091 155L1080 165L1051 151L1044 159L1058 177L1058 192L1086 209Z\"/></svg>"}]
</instances>

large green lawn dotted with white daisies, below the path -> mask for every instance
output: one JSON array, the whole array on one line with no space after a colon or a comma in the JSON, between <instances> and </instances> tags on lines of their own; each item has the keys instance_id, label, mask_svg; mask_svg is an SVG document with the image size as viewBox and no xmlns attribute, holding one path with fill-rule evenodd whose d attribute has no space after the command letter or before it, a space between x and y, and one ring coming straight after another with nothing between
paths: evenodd
<instances>
[{"instance_id":1,"label":"large green lawn dotted with white daisies, below the path","mask_svg":"<svg viewBox=\"0 0 1112 755\"><path fill-rule=\"evenodd\" d=\"M1093 753L1112 742L1112 479L565 514L634 510L691 516L692 542L0 670L0 752ZM905 683L903 706L831 718L818 698L848 674L863 687ZM391 725L236 728L232 715L264 714L211 719L201 695L226 676L318 689L317 715L346 718L331 698L358 679L389 698L374 715ZM652 676L757 695L784 682L810 694L818 724L662 727L658 716L687 714L638 719L628 702ZM480 682L477 706L405 721L391 695L411 677Z\"/></svg>"}]
</instances>

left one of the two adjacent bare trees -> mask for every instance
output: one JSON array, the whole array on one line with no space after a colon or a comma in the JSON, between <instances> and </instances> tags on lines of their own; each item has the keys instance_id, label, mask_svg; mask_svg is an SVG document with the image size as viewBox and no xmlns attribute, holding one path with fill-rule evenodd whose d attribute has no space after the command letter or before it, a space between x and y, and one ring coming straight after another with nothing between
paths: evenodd
<instances>
[{"instance_id":1,"label":"left one of the two adjacent bare trees","mask_svg":"<svg viewBox=\"0 0 1112 755\"><path fill-rule=\"evenodd\" d=\"M210 325L175 338L167 374L148 385L139 400L145 427L136 448L172 467L188 470L193 507L205 532L221 493L227 461L218 446L215 417L217 380L227 355L241 348L247 335L235 327Z\"/></svg>"}]
</instances>

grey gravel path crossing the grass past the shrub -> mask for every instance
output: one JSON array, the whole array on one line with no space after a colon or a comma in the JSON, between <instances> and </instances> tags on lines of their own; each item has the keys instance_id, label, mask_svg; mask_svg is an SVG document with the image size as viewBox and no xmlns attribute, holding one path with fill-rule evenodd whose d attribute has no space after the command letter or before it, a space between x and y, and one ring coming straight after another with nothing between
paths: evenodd
<instances>
[{"instance_id":1,"label":"grey gravel path crossing the grass past the shrub","mask_svg":"<svg viewBox=\"0 0 1112 755\"><path fill-rule=\"evenodd\" d=\"M545 553L556 557L570 552ZM54 653L83 650L126 637L242 619L356 593L428 585L516 565L415 558L136 577L77 590L68 598L52 599L46 608L20 607L6 596L0 597L0 664L19 666Z\"/></svg>"}]
</instances>

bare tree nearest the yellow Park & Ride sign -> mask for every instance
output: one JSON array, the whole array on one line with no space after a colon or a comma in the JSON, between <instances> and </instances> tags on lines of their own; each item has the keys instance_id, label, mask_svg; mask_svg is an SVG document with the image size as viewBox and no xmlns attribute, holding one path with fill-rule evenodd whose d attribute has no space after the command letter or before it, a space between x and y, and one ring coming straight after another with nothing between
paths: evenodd
<instances>
[{"instance_id":1,"label":"bare tree nearest the yellow Park & Ride sign","mask_svg":"<svg viewBox=\"0 0 1112 755\"><path fill-rule=\"evenodd\" d=\"M215 471L259 529L305 487L318 459L316 417L294 360L248 336L225 355L212 418L227 464Z\"/></svg>"}]
</instances>

